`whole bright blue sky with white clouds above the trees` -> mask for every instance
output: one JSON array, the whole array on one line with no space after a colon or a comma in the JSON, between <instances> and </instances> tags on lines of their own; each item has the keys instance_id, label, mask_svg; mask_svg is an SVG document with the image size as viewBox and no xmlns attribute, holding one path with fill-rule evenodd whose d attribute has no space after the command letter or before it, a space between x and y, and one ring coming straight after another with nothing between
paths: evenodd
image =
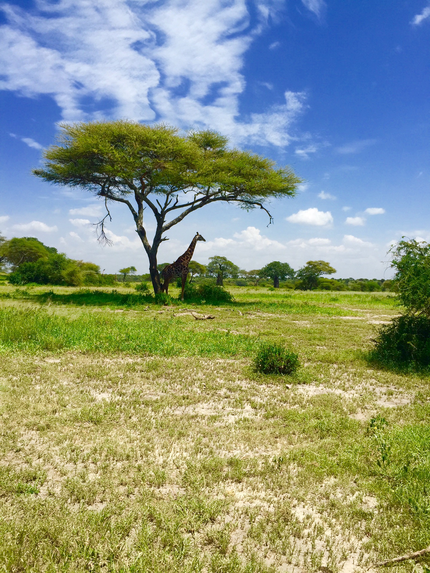
<instances>
[{"instance_id":1,"label":"whole bright blue sky with white clouds above the trees","mask_svg":"<svg viewBox=\"0 0 430 573\"><path fill-rule=\"evenodd\" d=\"M242 268L323 259L339 277L390 276L402 235L430 240L430 3L425 0L21 0L0 12L0 230L106 272L147 260L122 206L97 244L99 202L30 175L58 121L128 117L213 128L291 164L298 197L197 211L172 261ZM154 228L148 218L149 233Z\"/></svg>"}]
</instances>

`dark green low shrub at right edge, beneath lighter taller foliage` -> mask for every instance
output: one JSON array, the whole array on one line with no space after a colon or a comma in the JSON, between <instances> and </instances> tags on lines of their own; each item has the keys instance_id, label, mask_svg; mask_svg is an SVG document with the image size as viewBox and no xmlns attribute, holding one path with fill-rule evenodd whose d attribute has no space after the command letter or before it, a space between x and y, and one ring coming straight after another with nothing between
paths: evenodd
<instances>
[{"instance_id":1,"label":"dark green low shrub at right edge, beneath lighter taller foliage","mask_svg":"<svg viewBox=\"0 0 430 573\"><path fill-rule=\"evenodd\" d=\"M380 328L374 342L372 359L386 365L429 366L430 318L423 315L398 316Z\"/></svg>"}]
</instances>

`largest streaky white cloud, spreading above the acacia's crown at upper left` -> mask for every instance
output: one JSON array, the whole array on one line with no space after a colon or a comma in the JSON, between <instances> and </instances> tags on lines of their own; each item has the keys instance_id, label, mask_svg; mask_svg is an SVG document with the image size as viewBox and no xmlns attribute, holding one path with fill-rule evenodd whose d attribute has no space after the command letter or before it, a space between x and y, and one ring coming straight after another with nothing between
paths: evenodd
<instances>
[{"instance_id":1,"label":"largest streaky white cloud, spreading above the acacia's crown at upper left","mask_svg":"<svg viewBox=\"0 0 430 573\"><path fill-rule=\"evenodd\" d=\"M318 15L323 4L306 5ZM303 93L287 91L285 103L239 117L244 56L276 2L259 2L253 29L244 0L58 0L38 7L3 5L0 89L53 97L66 121L128 117L218 129L234 144L290 143Z\"/></svg>"}]
</instances>

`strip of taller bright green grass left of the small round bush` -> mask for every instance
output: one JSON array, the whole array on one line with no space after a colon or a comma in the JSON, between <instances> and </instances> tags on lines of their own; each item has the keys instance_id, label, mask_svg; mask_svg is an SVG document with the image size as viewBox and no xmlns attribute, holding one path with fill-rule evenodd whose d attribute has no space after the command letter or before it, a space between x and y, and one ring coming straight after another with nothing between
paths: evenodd
<instances>
[{"instance_id":1,"label":"strip of taller bright green grass left of the small round bush","mask_svg":"<svg viewBox=\"0 0 430 573\"><path fill-rule=\"evenodd\" d=\"M218 330L200 331L195 323L131 319L81 313L76 319L44 309L0 309L0 351L80 350L160 356L248 355L256 338Z\"/></svg>"}]
</instances>

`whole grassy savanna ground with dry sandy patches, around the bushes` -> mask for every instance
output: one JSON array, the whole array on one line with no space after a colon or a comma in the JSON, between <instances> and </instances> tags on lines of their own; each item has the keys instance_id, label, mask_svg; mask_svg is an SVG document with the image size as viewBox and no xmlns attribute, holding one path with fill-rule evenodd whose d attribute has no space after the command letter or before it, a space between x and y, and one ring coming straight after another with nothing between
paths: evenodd
<instances>
[{"instance_id":1,"label":"whole grassy savanna ground with dry sandy patches, around the bushes","mask_svg":"<svg viewBox=\"0 0 430 573\"><path fill-rule=\"evenodd\" d=\"M393 295L230 292L0 286L3 571L349 573L430 545L428 374L369 361ZM253 370L267 341L294 375Z\"/></svg>"}]
</instances>

